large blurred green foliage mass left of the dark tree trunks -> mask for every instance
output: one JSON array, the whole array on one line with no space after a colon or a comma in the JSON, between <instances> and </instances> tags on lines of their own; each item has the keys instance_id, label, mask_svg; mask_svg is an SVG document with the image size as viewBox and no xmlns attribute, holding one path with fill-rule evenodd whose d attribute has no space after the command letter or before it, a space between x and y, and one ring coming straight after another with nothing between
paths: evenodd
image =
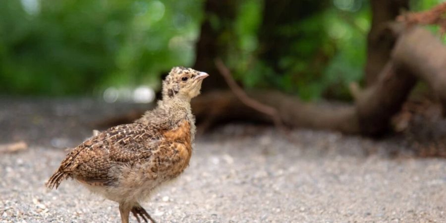
<instances>
[{"instance_id":1,"label":"large blurred green foliage mass left of the dark tree trunks","mask_svg":"<svg viewBox=\"0 0 446 223\"><path fill-rule=\"evenodd\" d=\"M91 94L193 62L201 0L2 0L0 91Z\"/></svg>"}]
</instances>

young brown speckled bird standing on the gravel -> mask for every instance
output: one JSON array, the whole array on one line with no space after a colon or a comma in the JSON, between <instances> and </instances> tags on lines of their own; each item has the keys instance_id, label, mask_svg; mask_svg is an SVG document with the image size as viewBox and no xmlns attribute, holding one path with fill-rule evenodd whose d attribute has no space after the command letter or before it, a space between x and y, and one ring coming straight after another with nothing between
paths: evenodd
<instances>
[{"instance_id":1,"label":"young brown speckled bird standing on the gravel","mask_svg":"<svg viewBox=\"0 0 446 223\"><path fill-rule=\"evenodd\" d=\"M192 155L195 117L190 101L200 94L206 72L173 67L162 84L162 99L133 123L94 131L72 149L46 186L68 178L119 204L122 223L130 212L140 222L155 220L140 205L154 189L177 178Z\"/></svg>"}]
</instances>

